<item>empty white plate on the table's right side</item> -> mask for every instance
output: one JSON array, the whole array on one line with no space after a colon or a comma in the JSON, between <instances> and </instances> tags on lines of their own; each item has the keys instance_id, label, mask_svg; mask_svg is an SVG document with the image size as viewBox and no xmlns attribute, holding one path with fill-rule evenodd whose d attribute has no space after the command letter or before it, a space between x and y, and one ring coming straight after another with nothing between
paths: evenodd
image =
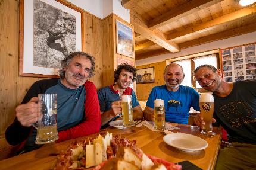
<instances>
[{"instance_id":1,"label":"empty white plate on the table's right side","mask_svg":"<svg viewBox=\"0 0 256 170\"><path fill-rule=\"evenodd\" d=\"M186 133L171 133L164 136L164 142L185 152L193 152L208 147L208 143L197 136Z\"/></svg>"}]
</instances>

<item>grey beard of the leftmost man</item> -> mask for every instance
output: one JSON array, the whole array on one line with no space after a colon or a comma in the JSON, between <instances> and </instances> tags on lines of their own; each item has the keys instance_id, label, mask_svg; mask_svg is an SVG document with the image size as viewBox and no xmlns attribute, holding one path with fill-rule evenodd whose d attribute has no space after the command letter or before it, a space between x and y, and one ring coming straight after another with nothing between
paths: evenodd
<instances>
[{"instance_id":1,"label":"grey beard of the leftmost man","mask_svg":"<svg viewBox=\"0 0 256 170\"><path fill-rule=\"evenodd\" d=\"M69 71L65 72L65 79L69 84L77 87L82 86L87 81L87 79L80 75L80 73L73 74Z\"/></svg>"}]
</instances>

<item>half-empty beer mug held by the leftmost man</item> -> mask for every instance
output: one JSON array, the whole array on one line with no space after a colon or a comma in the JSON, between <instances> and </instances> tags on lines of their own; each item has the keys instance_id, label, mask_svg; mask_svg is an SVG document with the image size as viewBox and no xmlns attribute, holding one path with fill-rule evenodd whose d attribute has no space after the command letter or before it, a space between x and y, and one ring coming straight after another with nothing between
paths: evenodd
<instances>
[{"instance_id":1,"label":"half-empty beer mug held by the leftmost man","mask_svg":"<svg viewBox=\"0 0 256 170\"><path fill-rule=\"evenodd\" d=\"M57 94L38 95L38 122L33 124L37 129L36 143L50 143L58 140L57 131Z\"/></svg>"}]
</instances>

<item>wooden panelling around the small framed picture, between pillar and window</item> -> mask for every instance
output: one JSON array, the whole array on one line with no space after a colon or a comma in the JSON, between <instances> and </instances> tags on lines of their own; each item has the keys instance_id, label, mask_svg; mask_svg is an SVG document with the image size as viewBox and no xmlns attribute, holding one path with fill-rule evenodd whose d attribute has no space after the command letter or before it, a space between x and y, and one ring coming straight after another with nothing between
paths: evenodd
<instances>
[{"instance_id":1,"label":"wooden panelling around the small framed picture, between pillar and window","mask_svg":"<svg viewBox=\"0 0 256 170\"><path fill-rule=\"evenodd\" d=\"M158 62L158 63L152 63L149 65L142 65L136 67L136 69L143 69L143 68L150 68L154 67L155 72L155 82L149 83L149 84L137 84L136 88L136 96L139 101L148 100L148 96L154 86L160 86L164 85L164 68L166 68L166 61Z\"/></svg>"}]
</instances>

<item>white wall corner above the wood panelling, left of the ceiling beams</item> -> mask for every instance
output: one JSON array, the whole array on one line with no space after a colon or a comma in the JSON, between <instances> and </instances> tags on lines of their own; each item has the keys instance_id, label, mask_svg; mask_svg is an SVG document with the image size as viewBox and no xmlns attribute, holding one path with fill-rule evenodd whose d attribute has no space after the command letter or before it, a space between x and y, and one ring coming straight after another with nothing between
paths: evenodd
<instances>
[{"instance_id":1,"label":"white wall corner above the wood panelling, left of the ceiling beams","mask_svg":"<svg viewBox=\"0 0 256 170\"><path fill-rule=\"evenodd\" d=\"M121 5L121 0L68 0L72 4L76 5L95 15L98 18L105 18L108 15L114 13L123 20L130 23L130 11L125 9Z\"/></svg>"}]
</instances>

